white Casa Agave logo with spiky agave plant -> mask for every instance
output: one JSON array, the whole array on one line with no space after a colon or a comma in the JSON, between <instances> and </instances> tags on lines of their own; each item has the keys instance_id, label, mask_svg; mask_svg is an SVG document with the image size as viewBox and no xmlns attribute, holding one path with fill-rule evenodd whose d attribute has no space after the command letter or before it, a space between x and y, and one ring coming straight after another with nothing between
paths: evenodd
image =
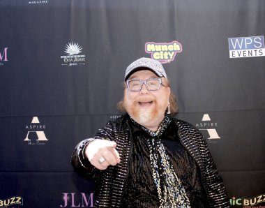
<instances>
[{"instance_id":1,"label":"white Casa Agave logo with spiky agave plant","mask_svg":"<svg viewBox=\"0 0 265 208\"><path fill-rule=\"evenodd\" d=\"M66 44L65 51L68 56L61 56L63 59L63 66L77 66L84 65L84 61L86 61L86 56L80 55L82 52L82 47L78 43L69 42Z\"/></svg>"}]
</instances>

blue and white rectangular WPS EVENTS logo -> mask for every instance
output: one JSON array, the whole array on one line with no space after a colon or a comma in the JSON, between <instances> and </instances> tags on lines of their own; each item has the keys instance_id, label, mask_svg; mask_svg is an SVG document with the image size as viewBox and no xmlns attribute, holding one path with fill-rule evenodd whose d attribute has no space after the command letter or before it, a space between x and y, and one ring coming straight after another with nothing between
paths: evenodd
<instances>
[{"instance_id":1,"label":"blue and white rectangular WPS EVENTS logo","mask_svg":"<svg viewBox=\"0 0 265 208\"><path fill-rule=\"evenodd\" d=\"M228 38L229 57L264 57L264 36Z\"/></svg>"}]
</instances>

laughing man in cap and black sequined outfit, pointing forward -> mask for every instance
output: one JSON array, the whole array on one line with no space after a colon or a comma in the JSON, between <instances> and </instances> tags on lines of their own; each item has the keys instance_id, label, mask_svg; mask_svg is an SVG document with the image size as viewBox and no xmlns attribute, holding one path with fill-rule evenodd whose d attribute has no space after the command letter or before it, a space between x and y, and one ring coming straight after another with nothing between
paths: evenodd
<instances>
[{"instance_id":1,"label":"laughing man in cap and black sequined outfit, pointing forward","mask_svg":"<svg viewBox=\"0 0 265 208\"><path fill-rule=\"evenodd\" d=\"M126 69L119 119L80 142L72 164L96 181L96 207L229 207L202 134L174 119L176 99L162 64Z\"/></svg>"}]
</instances>

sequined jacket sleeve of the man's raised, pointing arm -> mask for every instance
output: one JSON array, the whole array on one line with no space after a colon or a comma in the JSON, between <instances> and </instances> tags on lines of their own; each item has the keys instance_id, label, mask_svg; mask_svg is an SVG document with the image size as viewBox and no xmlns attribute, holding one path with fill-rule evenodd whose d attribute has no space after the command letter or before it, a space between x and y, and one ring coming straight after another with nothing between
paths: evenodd
<instances>
[{"instance_id":1,"label":"sequined jacket sleeve of the man's raised, pointing arm","mask_svg":"<svg viewBox=\"0 0 265 208\"><path fill-rule=\"evenodd\" d=\"M113 140L113 134L112 122L109 121L104 128L100 128L96 132L93 138L79 142L73 151L71 159L71 164L73 165L75 172L86 179L91 179L100 174L101 171L94 168L94 166L91 165L89 160L86 158L84 150L90 142L93 142L93 140Z\"/></svg>"}]
</instances>

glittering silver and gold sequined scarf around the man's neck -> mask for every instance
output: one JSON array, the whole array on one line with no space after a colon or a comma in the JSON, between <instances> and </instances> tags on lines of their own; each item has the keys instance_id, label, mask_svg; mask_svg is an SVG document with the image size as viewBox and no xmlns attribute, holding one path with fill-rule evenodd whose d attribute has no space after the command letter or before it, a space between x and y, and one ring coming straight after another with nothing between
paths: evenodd
<instances>
[{"instance_id":1,"label":"glittering silver and gold sequined scarf around the man's neck","mask_svg":"<svg viewBox=\"0 0 265 208\"><path fill-rule=\"evenodd\" d=\"M165 147L161 142L160 135L164 133L171 122L171 117L165 115L156 132L150 131L144 126L141 128L149 134L147 140L149 157L151 161L153 181L156 184L160 207L190 207L190 201L185 193L181 181L176 176L174 168L169 161ZM134 124L137 124L134 121Z\"/></svg>"}]
</instances>

